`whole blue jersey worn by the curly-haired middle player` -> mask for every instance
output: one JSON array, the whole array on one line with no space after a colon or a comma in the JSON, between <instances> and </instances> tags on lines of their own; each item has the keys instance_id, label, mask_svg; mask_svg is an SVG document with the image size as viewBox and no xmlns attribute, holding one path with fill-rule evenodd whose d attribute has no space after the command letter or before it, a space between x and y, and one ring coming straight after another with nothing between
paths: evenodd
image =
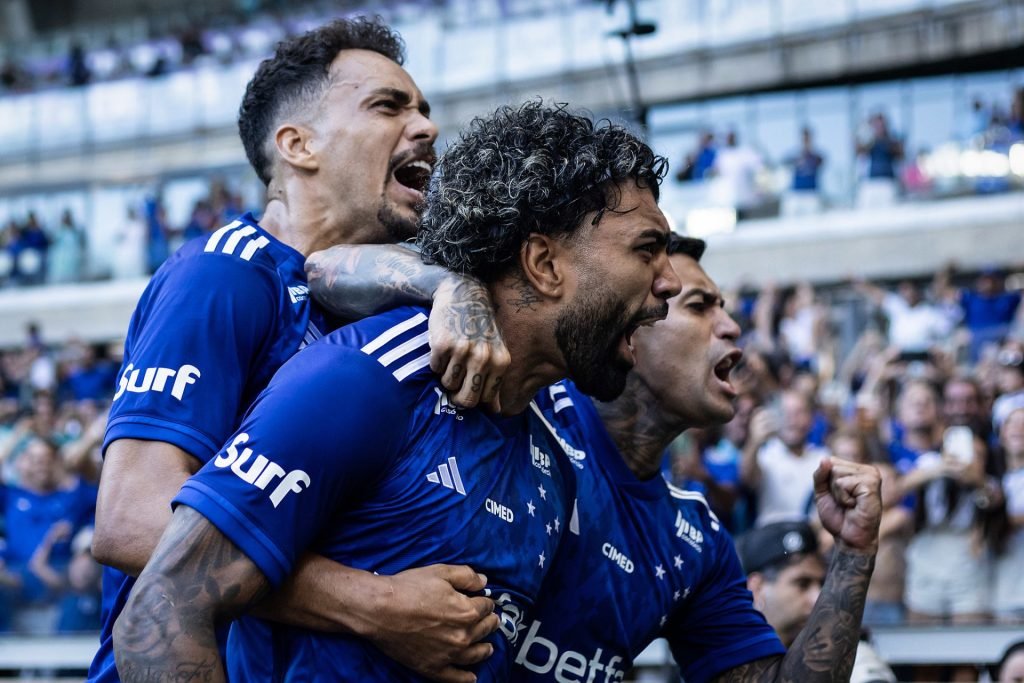
<instances>
[{"instance_id":1,"label":"whole blue jersey worn by the curly-haired middle player","mask_svg":"<svg viewBox=\"0 0 1024 683\"><path fill-rule=\"evenodd\" d=\"M420 308L332 333L285 364L175 505L206 516L275 587L306 551L381 574L472 566L501 617L476 673L505 680L571 511L572 474L536 408L457 409L429 361ZM266 669L273 680L421 680L353 636L237 621L228 677L265 680Z\"/></svg>"}]
</instances>

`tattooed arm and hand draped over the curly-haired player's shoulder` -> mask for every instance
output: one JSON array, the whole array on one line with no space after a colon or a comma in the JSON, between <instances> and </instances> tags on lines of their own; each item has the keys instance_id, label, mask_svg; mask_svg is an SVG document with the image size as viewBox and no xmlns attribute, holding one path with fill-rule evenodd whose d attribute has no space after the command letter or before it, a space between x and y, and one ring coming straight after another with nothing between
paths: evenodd
<instances>
[{"instance_id":1,"label":"tattooed arm and hand draped over the curly-haired player's shoulder","mask_svg":"<svg viewBox=\"0 0 1024 683\"><path fill-rule=\"evenodd\" d=\"M497 399L511 357L479 281L427 265L400 245L340 245L316 252L306 260L306 276L317 302L342 317L432 303L431 370L460 405Z\"/></svg>"}]
</instances>

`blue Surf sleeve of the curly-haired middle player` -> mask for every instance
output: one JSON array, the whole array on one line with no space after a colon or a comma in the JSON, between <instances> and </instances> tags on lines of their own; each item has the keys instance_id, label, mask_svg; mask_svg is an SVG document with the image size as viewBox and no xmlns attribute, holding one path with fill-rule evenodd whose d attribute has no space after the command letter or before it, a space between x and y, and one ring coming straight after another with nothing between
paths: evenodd
<instances>
[{"instance_id":1,"label":"blue Surf sleeve of the curly-haired middle player","mask_svg":"<svg viewBox=\"0 0 1024 683\"><path fill-rule=\"evenodd\" d=\"M198 510L280 585L394 461L411 413L399 386L358 350L313 344L285 364L174 505Z\"/></svg>"}]
</instances>

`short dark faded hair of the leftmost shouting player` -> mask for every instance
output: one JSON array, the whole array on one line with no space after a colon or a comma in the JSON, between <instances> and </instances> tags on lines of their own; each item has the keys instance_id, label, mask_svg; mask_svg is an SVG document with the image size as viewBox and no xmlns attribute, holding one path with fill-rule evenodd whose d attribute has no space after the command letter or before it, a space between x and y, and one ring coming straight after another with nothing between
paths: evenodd
<instances>
[{"instance_id":1,"label":"short dark faded hair of the leftmost shouting player","mask_svg":"<svg viewBox=\"0 0 1024 683\"><path fill-rule=\"evenodd\" d=\"M401 37L379 16L335 19L278 43L260 62L239 108L239 135L249 163L264 185L270 184L266 143L282 110L311 101L330 84L331 62L342 50L372 50L397 65L406 60Z\"/></svg>"}]
</instances>

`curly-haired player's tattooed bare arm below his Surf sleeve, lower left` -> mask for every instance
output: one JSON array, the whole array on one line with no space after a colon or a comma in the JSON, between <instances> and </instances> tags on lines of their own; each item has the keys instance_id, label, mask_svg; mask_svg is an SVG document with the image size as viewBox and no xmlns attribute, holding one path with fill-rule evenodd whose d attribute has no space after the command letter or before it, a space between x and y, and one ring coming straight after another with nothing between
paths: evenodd
<instances>
[{"instance_id":1,"label":"curly-haired player's tattooed bare arm below his Surf sleeve, lower left","mask_svg":"<svg viewBox=\"0 0 1024 683\"><path fill-rule=\"evenodd\" d=\"M245 612L268 587L206 517L179 506L114 625L121 680L224 681L215 623Z\"/></svg>"}]
</instances>

